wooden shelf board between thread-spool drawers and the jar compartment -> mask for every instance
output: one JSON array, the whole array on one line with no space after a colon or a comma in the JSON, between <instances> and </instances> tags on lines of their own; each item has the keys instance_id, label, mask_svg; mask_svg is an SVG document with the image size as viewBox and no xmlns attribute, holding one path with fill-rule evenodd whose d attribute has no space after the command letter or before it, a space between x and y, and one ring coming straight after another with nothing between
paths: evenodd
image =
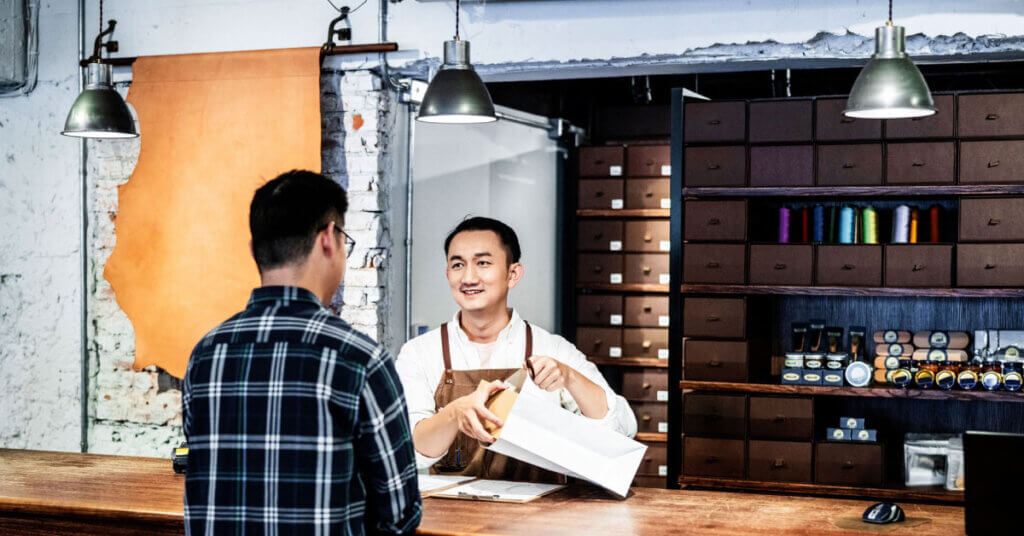
<instances>
[{"instance_id":1,"label":"wooden shelf board between thread-spool drawers and the jar compartment","mask_svg":"<svg viewBox=\"0 0 1024 536\"><path fill-rule=\"evenodd\" d=\"M785 294L795 296L1024 297L1024 289L1022 288L814 287L686 284L682 286L682 291L683 294Z\"/></svg>"}]
</instances>

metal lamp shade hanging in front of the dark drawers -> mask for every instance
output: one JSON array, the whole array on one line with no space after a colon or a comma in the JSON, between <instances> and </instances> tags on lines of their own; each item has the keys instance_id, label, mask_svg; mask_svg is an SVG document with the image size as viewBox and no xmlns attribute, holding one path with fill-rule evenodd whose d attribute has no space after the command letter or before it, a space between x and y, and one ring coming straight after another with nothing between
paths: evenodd
<instances>
[{"instance_id":1,"label":"metal lamp shade hanging in front of the dark drawers","mask_svg":"<svg viewBox=\"0 0 1024 536\"><path fill-rule=\"evenodd\" d=\"M857 75L843 114L858 119L903 119L934 113L928 83L906 55L903 27L877 28L874 55Z\"/></svg>"}]
</instances>

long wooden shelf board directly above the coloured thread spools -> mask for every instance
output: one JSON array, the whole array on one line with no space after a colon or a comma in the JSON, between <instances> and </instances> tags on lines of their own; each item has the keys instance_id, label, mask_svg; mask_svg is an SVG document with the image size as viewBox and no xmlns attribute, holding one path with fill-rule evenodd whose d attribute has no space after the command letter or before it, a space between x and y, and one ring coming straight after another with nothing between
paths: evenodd
<instances>
[{"instance_id":1,"label":"long wooden shelf board directly above the coloured thread spools","mask_svg":"<svg viewBox=\"0 0 1024 536\"><path fill-rule=\"evenodd\" d=\"M908 197L1024 194L1024 184L878 187L684 188L683 197Z\"/></svg>"}]
</instances>

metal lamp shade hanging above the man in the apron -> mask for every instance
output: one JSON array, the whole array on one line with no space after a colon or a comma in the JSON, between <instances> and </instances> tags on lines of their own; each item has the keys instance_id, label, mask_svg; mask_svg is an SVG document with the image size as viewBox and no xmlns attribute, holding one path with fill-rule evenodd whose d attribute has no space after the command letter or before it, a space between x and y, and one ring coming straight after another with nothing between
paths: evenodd
<instances>
[{"instance_id":1,"label":"metal lamp shade hanging above the man in the apron","mask_svg":"<svg viewBox=\"0 0 1024 536\"><path fill-rule=\"evenodd\" d=\"M444 42L444 64L430 81L416 119L461 124L498 119L490 92L469 63L468 41Z\"/></svg>"}]
</instances>

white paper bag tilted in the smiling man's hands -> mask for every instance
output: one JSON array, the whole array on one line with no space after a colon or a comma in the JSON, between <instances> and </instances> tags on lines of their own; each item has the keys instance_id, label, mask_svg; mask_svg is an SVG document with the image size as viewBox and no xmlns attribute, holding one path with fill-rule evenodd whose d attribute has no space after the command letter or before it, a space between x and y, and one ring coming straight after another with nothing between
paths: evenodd
<instances>
[{"instance_id":1,"label":"white paper bag tilted in the smiling man's hands","mask_svg":"<svg viewBox=\"0 0 1024 536\"><path fill-rule=\"evenodd\" d=\"M498 441L487 448L596 484L625 498L647 446L594 419L553 408L538 393L540 389L531 382L523 385L504 419Z\"/></svg>"}]
</instances>

